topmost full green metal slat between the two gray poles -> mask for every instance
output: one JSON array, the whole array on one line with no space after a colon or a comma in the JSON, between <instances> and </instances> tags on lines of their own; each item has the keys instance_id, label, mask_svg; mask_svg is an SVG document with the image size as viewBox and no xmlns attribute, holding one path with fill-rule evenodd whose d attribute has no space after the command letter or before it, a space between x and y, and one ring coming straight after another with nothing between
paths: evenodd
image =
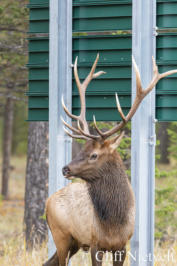
<instances>
[{"instance_id":1,"label":"topmost full green metal slat between the two gray poles","mask_svg":"<svg viewBox=\"0 0 177 266\"><path fill-rule=\"evenodd\" d=\"M73 7L73 19L95 17L124 17L132 16L132 4L112 4Z\"/></svg>"}]
</instances>

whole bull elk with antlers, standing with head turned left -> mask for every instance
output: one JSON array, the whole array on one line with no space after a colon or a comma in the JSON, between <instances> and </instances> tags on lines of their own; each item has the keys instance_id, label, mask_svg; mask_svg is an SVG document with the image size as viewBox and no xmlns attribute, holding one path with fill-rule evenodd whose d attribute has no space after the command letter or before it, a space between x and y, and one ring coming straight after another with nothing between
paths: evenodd
<instances>
[{"instance_id":1,"label":"whole bull elk with antlers, standing with head turned left","mask_svg":"<svg viewBox=\"0 0 177 266\"><path fill-rule=\"evenodd\" d=\"M176 73L177 70L158 73L153 58L153 78L143 90L140 72L132 56L136 73L137 93L127 116L124 116L116 94L117 108L122 121L113 129L102 133L95 121L99 136L89 133L85 118L85 91L89 82L103 71L94 74L99 54L90 74L80 83L77 73L77 58L74 74L81 99L81 114L75 116L67 110L62 96L62 105L67 115L78 121L78 129L63 123L78 135L65 132L72 138L86 140L85 147L68 165L64 166L66 179L80 177L86 184L75 182L53 194L46 204L46 218L52 232L57 251L43 266L65 266L67 261L81 248L89 250L93 266L101 266L103 252L112 252L113 266L122 266L126 256L126 244L131 238L135 225L135 196L125 172L125 167L117 152L124 132L106 140L122 129L132 118L142 99L153 89L160 78ZM82 125L83 129L81 129ZM118 252L118 253L117 253ZM119 254L119 256L117 256ZM121 254L121 256L120 256ZM68 258L68 259L67 259Z\"/></svg>"}]
</instances>

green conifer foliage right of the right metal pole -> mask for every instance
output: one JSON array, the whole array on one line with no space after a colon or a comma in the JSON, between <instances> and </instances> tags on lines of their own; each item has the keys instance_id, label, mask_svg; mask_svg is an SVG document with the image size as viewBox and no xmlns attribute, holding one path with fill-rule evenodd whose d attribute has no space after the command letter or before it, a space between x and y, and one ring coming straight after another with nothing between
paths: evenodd
<instances>
[{"instance_id":1,"label":"green conifer foliage right of the right metal pole","mask_svg":"<svg viewBox=\"0 0 177 266\"><path fill-rule=\"evenodd\" d=\"M167 128L170 139L170 156L177 159L177 122L170 123L170 129ZM159 158L156 155L156 158ZM155 188L155 237L162 237L163 230L169 226L177 227L177 170L170 172L160 171L155 166L155 178L165 184ZM159 184L160 186L160 184Z\"/></svg>"}]
</instances>

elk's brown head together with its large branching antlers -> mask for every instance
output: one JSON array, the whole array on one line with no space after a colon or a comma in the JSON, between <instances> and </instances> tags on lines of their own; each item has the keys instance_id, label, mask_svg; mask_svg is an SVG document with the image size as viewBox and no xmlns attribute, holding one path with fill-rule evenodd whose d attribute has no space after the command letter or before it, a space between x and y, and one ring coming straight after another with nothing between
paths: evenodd
<instances>
[{"instance_id":1,"label":"elk's brown head together with its large branching antlers","mask_svg":"<svg viewBox=\"0 0 177 266\"><path fill-rule=\"evenodd\" d=\"M130 121L130 119L136 112L138 106L140 105L142 99L153 89L153 87L156 85L158 80L160 80L162 77L165 77L165 76L168 76L170 74L177 72L177 70L172 70L172 71L165 72L163 74L159 74L158 67L155 64L155 59L152 56L153 78L149 86L145 90L143 90L142 85L141 85L140 72L132 56L132 61L133 61L133 65L134 65L135 73L136 73L136 85L137 85L137 93L136 93L135 101L129 113L127 114L127 116L124 116L122 109L120 107L120 104L119 104L117 93L116 93L117 108L122 118L122 121L117 126L115 126L113 129L110 129L109 131L102 133L96 125L95 116L94 116L94 126L95 126L96 131L99 133L99 136L94 136L89 133L88 125L87 125L86 118L85 118L85 112L86 112L85 91L86 91L87 85L94 77L98 77L99 75L106 73L106 72L100 71L94 74L94 70L96 68L98 58L99 58L99 54L97 55L96 61L94 62L91 72L89 73L88 77L83 82L83 84L81 84L78 78L78 73L77 73L77 57L76 57L76 61L74 64L74 74L75 74L76 84L77 84L79 94L80 94L80 99L81 99L81 114L79 116L75 116L69 113L69 111L67 110L64 104L63 95L62 95L63 108L70 118L78 121L78 129L75 129L72 126L68 125L63 120L62 117L61 119L63 123L65 124L65 126L71 129L73 132L76 132L78 135L70 134L64 128L64 126L63 126L63 129L72 138L86 140L85 148L80 151L79 155L75 159L73 159L71 163L69 163L67 166L64 166L62 169L63 175L67 179L75 179L77 177L80 177L81 179L92 182L95 179L99 178L100 169L105 169L105 167L100 167L100 166L104 164L106 161L110 161L110 167L112 167L114 163L122 164L122 160L120 159L120 156L119 155L118 157L115 156L115 153L116 153L115 148L120 144L124 132L122 132L118 136L115 136L111 140L106 140L106 139L112 136L113 134L117 133L128 123L128 121ZM83 130L81 129L80 124L83 126ZM105 158L107 158L107 160ZM118 159L115 159L115 158L118 158ZM94 171L95 176L93 174L93 169L95 170ZM109 169L109 171L111 171L111 168ZM90 176L92 176L91 180L89 180Z\"/></svg>"}]
</instances>

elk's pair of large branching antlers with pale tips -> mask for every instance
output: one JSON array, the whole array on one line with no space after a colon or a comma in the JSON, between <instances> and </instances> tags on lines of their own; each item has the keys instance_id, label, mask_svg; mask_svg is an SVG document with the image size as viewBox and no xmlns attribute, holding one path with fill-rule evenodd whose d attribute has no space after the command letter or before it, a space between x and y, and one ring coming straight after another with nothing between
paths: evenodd
<instances>
[{"instance_id":1,"label":"elk's pair of large branching antlers with pale tips","mask_svg":"<svg viewBox=\"0 0 177 266\"><path fill-rule=\"evenodd\" d=\"M128 121L130 121L130 119L132 118L132 116L133 116L134 113L136 112L138 106L140 105L142 99L143 99L143 98L144 98L144 97L145 97L145 96L146 96L146 95L147 95L147 94L153 89L153 87L155 87L155 85L156 85L156 83L158 82L158 80L160 80L161 78L166 77L166 76L168 76L168 75L171 75L171 74L173 74L173 73L177 73L177 69L175 69L175 70L171 70L171 71L168 71L168 72L165 72L165 73L159 74L159 73L158 73L158 67L157 67L156 64L155 64L155 59L154 59L153 56L152 56L152 59L153 59L153 78L152 78L152 80L151 80L149 86L148 86L145 90L143 90L143 89L142 89L142 85L141 85L140 72L139 72L138 67L137 67L137 64L135 63L135 60L134 60L134 58L133 58L133 56L132 56L132 61L133 61L133 65L134 65L135 73L136 73L137 93L136 93L135 101L134 101L134 103L133 103L133 105L132 105L132 107L131 107L129 113L127 114L127 116L124 116L124 114L123 114L123 112L122 112L122 109L121 109L121 107L120 107L119 100L118 100L118 97L117 97L117 93L116 93L117 108L118 108L119 114L120 114L120 116L121 116L121 118L122 118L122 121L121 121L117 126L115 126L114 128L108 130L108 131L105 132L105 133L102 133L102 132L98 129L97 125L96 125L95 116L94 116L94 126L95 126L95 129L96 129L96 131L99 133L100 136L93 136L93 135L90 135L90 134L89 134L89 130L88 130L88 126L87 126L87 124L86 124L86 120L83 120L83 121L81 120L81 121L80 121L79 119L81 119L81 118L80 118L81 115L80 115L80 116L73 116L73 115L71 115L71 114L68 112L68 110L66 109L65 105L64 105L63 108L64 108L64 110L65 110L65 112L66 112L67 114L69 113L68 116L71 117L71 118L73 118L74 120L78 119L78 129L79 129L79 131L78 131L77 129L74 129L73 127L69 126L68 124L66 124L66 123L63 121L63 119L62 119L63 123L64 123L66 126L68 126L69 129L73 130L74 132L76 132L76 133L78 133L78 134L80 134L80 135L82 135L82 136L71 135L71 134L70 134L68 131L66 131L66 130L65 130L65 132L66 132L67 134L69 133L68 135L69 135L70 137L80 138L80 139L84 139L84 140L89 140L89 139L91 138L91 139L94 139L94 140L97 141L97 142L103 143L104 140L106 140L108 137L112 136L113 134L115 134L116 132L118 132L120 129L122 129L122 128L128 123ZM96 61L95 61L95 63L94 63L94 66L92 67L92 70L93 70L93 69L95 70L95 67L96 67L96 63L97 63L97 61L98 61L98 56L97 56L97 58L96 58ZM76 74L77 74L76 64L77 64L77 58L76 58L75 65L74 65L74 67L75 67L75 69L74 69L74 73L76 72ZM91 70L91 72L92 72L92 70ZM96 74L93 74L93 73L94 73L94 70L93 70L92 74L91 74L91 72L90 72L90 74L89 74L89 75L91 75L91 78L88 79L89 76L86 78L86 80L89 80L89 82L90 82L90 80L93 78L94 75L96 75L96 77L98 77L100 74L105 73L105 72L103 72L103 71L100 71L100 72L98 72L98 73L96 73ZM86 82L86 80L85 80L85 81L83 82L83 84L81 85L81 83L79 82L79 79L78 79L78 75L76 75L76 74L75 74L75 78L77 77L76 83L77 83L77 85L80 86L80 87L78 86L79 94L80 94L80 97L81 97L81 95L82 95L82 97L83 97L83 99L84 99L84 100L83 100L83 99L81 98L81 113L82 113L82 115L83 115L83 113L84 113L84 116L85 116L85 90L86 90L86 87L85 87L85 89L83 89L83 90L84 90L84 93L80 93L80 91L82 90L82 89L81 89L81 88L82 88L81 86L83 86L83 84L86 84L86 86L87 86L89 82ZM78 83L78 82L79 82L79 83ZM83 96L83 95L84 95L84 96ZM82 107L82 103L84 103L84 107ZM62 101L62 104L64 104L63 101ZM67 110L67 111L66 111L66 110ZM83 110L83 111L82 111L82 110ZM85 117L84 117L84 119L85 119ZM79 121L80 121L80 123L83 125L84 131L81 129L81 127L80 127L80 125L79 125ZM83 124L83 123L84 123L84 124ZM84 127L84 125L85 125L85 127ZM84 137L84 136L85 136L85 137Z\"/></svg>"}]
</instances>

